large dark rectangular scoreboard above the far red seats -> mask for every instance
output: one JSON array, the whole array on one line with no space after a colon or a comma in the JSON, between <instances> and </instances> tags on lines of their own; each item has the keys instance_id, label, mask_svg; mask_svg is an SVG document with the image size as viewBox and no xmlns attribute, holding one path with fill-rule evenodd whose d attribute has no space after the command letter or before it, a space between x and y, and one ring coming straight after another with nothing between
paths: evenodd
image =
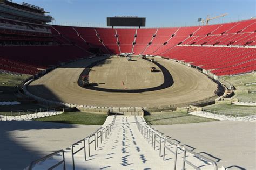
<instances>
[{"instance_id":1,"label":"large dark rectangular scoreboard above the far red seats","mask_svg":"<svg viewBox=\"0 0 256 170\"><path fill-rule=\"evenodd\" d=\"M107 26L146 26L146 18L130 16L107 17Z\"/></svg>"}]
</instances>

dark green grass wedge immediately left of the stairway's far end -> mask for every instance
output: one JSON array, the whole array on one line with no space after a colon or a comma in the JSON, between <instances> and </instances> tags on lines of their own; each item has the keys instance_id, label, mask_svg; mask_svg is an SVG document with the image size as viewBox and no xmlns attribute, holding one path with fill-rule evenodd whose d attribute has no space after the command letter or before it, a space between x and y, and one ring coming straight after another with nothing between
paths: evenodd
<instances>
[{"instance_id":1,"label":"dark green grass wedge immediately left of the stairway's far end","mask_svg":"<svg viewBox=\"0 0 256 170\"><path fill-rule=\"evenodd\" d=\"M106 121L106 114L89 114L84 112L66 112L60 115L35 119L36 121L83 124L83 125L103 125Z\"/></svg>"}]
</instances>

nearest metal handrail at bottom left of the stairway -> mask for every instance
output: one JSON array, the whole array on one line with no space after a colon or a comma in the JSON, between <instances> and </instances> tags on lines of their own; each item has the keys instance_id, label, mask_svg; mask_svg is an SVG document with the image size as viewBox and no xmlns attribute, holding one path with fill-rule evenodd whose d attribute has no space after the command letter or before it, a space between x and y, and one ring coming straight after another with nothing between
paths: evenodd
<instances>
[{"instance_id":1,"label":"nearest metal handrail at bottom left of the stairway","mask_svg":"<svg viewBox=\"0 0 256 170\"><path fill-rule=\"evenodd\" d=\"M62 158L63 158L62 161L58 162L57 164L51 166L51 167L48 168L48 169L53 169L53 168L58 167L60 164L63 164L63 169L65 170L65 169L66 169L66 166L65 166L64 150L59 150L59 151L53 152L53 153L51 153L51 154L49 154L49 155L46 155L46 156L43 157L43 158L39 158L39 159L37 159L37 160L32 161L32 162L30 163L28 169L29 169L29 170L32 170L33 165L37 164L38 162L44 161L44 160L46 160L46 159L48 159L48 158L50 158L50 157L53 157L53 156L55 156L56 154L58 154L58 153L60 153L60 152L62 153Z\"/></svg>"}]
</instances>

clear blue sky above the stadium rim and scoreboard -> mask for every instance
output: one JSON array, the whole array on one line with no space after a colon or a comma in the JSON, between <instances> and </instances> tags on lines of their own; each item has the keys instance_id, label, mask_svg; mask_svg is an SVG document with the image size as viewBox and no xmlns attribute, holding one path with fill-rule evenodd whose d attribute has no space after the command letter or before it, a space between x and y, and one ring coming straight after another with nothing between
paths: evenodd
<instances>
[{"instance_id":1,"label":"clear blue sky above the stadium rim and scoreboard","mask_svg":"<svg viewBox=\"0 0 256 170\"><path fill-rule=\"evenodd\" d=\"M146 17L146 27L199 25L205 19L210 24L232 22L255 17L255 0L13 0L37 5L50 12L53 24L106 27L106 17Z\"/></svg>"}]
</instances>

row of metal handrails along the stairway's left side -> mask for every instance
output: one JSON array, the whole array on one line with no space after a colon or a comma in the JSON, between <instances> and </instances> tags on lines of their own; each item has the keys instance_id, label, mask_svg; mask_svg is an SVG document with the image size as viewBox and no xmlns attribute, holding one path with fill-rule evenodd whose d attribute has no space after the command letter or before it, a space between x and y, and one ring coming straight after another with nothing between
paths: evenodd
<instances>
[{"instance_id":1,"label":"row of metal handrails along the stairway's left side","mask_svg":"<svg viewBox=\"0 0 256 170\"><path fill-rule=\"evenodd\" d=\"M72 169L76 168L76 166L75 166L75 158L76 158L75 155L78 152L83 151L85 161L87 160L86 159L87 157L91 157L91 149L92 149L91 147L92 147L92 145L94 145L93 149L94 149L94 151L96 151L96 149L99 147L99 143L102 143L107 137L109 137L110 132L113 130L115 122L116 122L116 115L114 115L113 121L110 124L106 125L104 128L100 127L98 130L96 130L95 132L93 132L92 134L87 136L86 138L84 138L82 140L79 140L76 143L73 143L71 145ZM65 165L66 155L64 155L64 152L63 152L63 164ZM43 157L39 160L31 162L31 164L29 166L29 168L30 168L29 170L32 170L32 168L35 167L36 164L41 162L41 160L45 161L46 159L49 159L49 158L55 156L56 154L59 154L59 152L55 152L55 153L46 155L45 157ZM57 166L59 166L59 165L60 164L58 164ZM57 166L54 166L54 168L56 168ZM48 168L48 169L53 169L53 168ZM65 169L65 166L63 167L63 169Z\"/></svg>"}]
</instances>

